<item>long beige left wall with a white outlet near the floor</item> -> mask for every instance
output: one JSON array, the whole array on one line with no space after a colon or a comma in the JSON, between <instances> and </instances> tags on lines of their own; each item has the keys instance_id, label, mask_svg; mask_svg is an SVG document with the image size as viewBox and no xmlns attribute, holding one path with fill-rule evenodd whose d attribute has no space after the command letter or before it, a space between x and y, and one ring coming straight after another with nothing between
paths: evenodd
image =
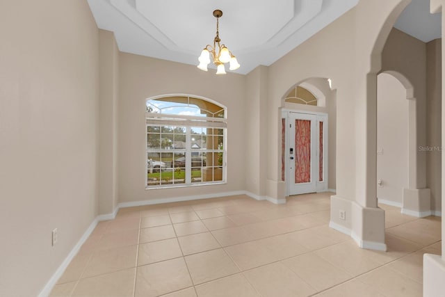
<instances>
[{"instance_id":1,"label":"long beige left wall with a white outlet near the floor","mask_svg":"<svg viewBox=\"0 0 445 297\"><path fill-rule=\"evenodd\" d=\"M0 296L37 296L97 216L97 26L77 0L0 19Z\"/></svg>"}]
</instances>

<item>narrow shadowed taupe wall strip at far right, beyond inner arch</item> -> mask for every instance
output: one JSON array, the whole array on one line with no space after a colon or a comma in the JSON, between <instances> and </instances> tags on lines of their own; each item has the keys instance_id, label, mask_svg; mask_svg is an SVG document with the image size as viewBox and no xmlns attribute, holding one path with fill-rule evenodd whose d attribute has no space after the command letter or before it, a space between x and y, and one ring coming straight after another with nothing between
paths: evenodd
<instances>
[{"instance_id":1,"label":"narrow shadowed taupe wall strip at far right, beyond inner arch","mask_svg":"<svg viewBox=\"0 0 445 297\"><path fill-rule=\"evenodd\" d=\"M442 118L442 39L426 44L426 186L431 189L431 209L442 210L442 129L437 125Z\"/></svg>"}]
</instances>

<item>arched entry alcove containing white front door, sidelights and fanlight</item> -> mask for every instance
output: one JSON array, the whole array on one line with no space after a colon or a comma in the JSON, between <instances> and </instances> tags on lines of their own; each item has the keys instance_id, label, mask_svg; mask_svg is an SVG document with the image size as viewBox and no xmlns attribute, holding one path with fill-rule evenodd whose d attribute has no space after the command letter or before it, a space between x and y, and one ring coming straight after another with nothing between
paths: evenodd
<instances>
[{"instance_id":1,"label":"arched entry alcove containing white front door, sidelights and fanlight","mask_svg":"<svg viewBox=\"0 0 445 297\"><path fill-rule=\"evenodd\" d=\"M286 196L335 191L336 92L324 78L293 86L282 102Z\"/></svg>"}]
</instances>

